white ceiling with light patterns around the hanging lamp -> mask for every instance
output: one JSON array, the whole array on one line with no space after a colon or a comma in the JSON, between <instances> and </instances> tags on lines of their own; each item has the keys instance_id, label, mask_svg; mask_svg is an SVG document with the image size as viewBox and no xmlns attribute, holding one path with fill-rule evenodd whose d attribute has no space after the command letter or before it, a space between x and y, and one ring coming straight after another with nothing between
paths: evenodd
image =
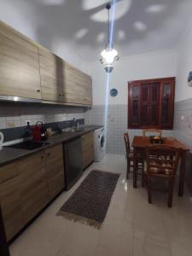
<instances>
[{"instance_id":1,"label":"white ceiling with light patterns around the hanging lamp","mask_svg":"<svg viewBox=\"0 0 192 256\"><path fill-rule=\"evenodd\" d=\"M15 0L15 3L17 0ZM106 0L26 0L35 9L38 42L70 45L96 61L107 43ZM189 20L191 0L116 0L113 45L120 56L175 49Z\"/></svg>"}]
</instances>

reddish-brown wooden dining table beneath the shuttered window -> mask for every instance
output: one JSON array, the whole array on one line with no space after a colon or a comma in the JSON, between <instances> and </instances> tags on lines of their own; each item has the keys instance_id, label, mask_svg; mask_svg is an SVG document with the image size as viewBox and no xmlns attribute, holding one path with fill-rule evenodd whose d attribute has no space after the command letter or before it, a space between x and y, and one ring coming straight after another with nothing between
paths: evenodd
<instances>
[{"instance_id":1,"label":"reddish-brown wooden dining table beneath the shuttered window","mask_svg":"<svg viewBox=\"0 0 192 256\"><path fill-rule=\"evenodd\" d=\"M143 155L145 158L145 148L152 145L150 137L135 136L132 141L133 148L133 188L137 188L137 155ZM181 164L179 168L178 195L183 196L186 154L190 150L186 145L179 142L174 137L165 137L162 145L179 148L181 150Z\"/></svg>"}]
</instances>

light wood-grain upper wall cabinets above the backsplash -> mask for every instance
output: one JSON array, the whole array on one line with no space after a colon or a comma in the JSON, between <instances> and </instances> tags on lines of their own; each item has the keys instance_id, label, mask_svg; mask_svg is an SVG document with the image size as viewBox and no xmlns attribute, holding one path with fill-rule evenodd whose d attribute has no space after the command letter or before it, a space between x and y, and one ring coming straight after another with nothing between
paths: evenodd
<instances>
[{"instance_id":1,"label":"light wood-grain upper wall cabinets above the backsplash","mask_svg":"<svg viewBox=\"0 0 192 256\"><path fill-rule=\"evenodd\" d=\"M92 105L92 79L88 74L2 21L0 58L0 99Z\"/></svg>"}]
</instances>

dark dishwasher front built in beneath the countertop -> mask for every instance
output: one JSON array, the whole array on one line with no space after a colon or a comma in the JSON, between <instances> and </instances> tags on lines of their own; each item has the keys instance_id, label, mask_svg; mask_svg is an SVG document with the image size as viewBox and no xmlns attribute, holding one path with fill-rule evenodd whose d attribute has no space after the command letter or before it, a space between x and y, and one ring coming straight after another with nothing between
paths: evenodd
<instances>
[{"instance_id":1,"label":"dark dishwasher front built in beneath the countertop","mask_svg":"<svg viewBox=\"0 0 192 256\"><path fill-rule=\"evenodd\" d=\"M81 137L63 143L65 159L65 189L70 189L83 174Z\"/></svg>"}]
</instances>

